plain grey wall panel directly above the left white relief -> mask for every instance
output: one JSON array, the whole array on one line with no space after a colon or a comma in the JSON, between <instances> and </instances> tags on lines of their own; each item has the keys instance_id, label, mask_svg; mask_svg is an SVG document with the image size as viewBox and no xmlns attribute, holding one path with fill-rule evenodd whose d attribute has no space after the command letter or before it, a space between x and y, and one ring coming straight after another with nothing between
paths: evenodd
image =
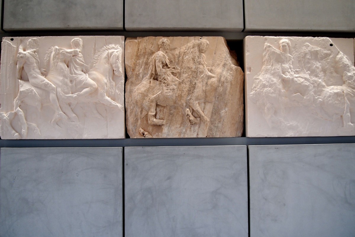
<instances>
[{"instance_id":1,"label":"plain grey wall panel directly above the left white relief","mask_svg":"<svg viewBox=\"0 0 355 237\"><path fill-rule=\"evenodd\" d=\"M123 29L122 0L5 0L4 30Z\"/></svg>"}]
</instances>

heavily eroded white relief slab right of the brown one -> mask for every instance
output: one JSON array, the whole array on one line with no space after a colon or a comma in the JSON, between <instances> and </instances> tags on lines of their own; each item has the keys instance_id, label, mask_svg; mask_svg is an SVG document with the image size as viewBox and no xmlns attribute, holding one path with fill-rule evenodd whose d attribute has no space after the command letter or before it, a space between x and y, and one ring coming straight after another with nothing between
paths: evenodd
<instances>
[{"instance_id":1,"label":"heavily eroded white relief slab right of the brown one","mask_svg":"<svg viewBox=\"0 0 355 237\"><path fill-rule=\"evenodd\" d=\"M246 135L355 135L353 39L244 39Z\"/></svg>"}]
</instances>

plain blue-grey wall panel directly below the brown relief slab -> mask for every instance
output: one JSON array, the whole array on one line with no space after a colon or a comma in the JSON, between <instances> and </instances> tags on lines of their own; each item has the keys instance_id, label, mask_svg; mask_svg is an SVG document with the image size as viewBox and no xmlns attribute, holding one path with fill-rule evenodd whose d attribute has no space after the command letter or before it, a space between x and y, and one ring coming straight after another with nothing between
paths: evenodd
<instances>
[{"instance_id":1,"label":"plain blue-grey wall panel directly below the brown relief slab","mask_svg":"<svg viewBox=\"0 0 355 237\"><path fill-rule=\"evenodd\" d=\"M126 147L125 236L248 236L246 146Z\"/></svg>"}]
</instances>

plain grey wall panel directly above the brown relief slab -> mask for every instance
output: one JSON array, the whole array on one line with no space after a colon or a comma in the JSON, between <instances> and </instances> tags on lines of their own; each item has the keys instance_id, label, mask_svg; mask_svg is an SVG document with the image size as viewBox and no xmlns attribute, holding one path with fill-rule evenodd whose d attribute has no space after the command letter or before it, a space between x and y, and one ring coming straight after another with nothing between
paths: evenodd
<instances>
[{"instance_id":1,"label":"plain grey wall panel directly above the brown relief slab","mask_svg":"<svg viewBox=\"0 0 355 237\"><path fill-rule=\"evenodd\" d=\"M130 0L125 2L128 31L236 31L243 22L242 0Z\"/></svg>"}]
</instances>

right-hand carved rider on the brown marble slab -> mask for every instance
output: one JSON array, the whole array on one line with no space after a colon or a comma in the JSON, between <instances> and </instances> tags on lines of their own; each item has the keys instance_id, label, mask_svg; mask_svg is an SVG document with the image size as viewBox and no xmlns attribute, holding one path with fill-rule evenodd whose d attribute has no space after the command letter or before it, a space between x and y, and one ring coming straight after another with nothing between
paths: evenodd
<instances>
[{"instance_id":1,"label":"right-hand carved rider on the brown marble slab","mask_svg":"<svg viewBox=\"0 0 355 237\"><path fill-rule=\"evenodd\" d=\"M209 42L207 39L201 39L199 41L197 63L199 63L200 65L198 66L198 74L197 74L198 78L195 79L196 81L195 89L193 90L192 95L189 96L190 97L189 106L191 107L191 109L186 108L185 110L186 118L189 119L189 122L191 124L196 124L199 122L199 120L192 115L193 111L195 111L198 114L198 116L202 119L204 123L209 122L209 119L206 117L206 115L204 115L202 109L200 108L200 105L198 104L198 101L204 99L205 82L210 78L215 77L215 75L211 73L211 71L213 72L213 69L207 67L206 55L204 55L204 52L206 52L208 46L209 46Z\"/></svg>"}]
</instances>

